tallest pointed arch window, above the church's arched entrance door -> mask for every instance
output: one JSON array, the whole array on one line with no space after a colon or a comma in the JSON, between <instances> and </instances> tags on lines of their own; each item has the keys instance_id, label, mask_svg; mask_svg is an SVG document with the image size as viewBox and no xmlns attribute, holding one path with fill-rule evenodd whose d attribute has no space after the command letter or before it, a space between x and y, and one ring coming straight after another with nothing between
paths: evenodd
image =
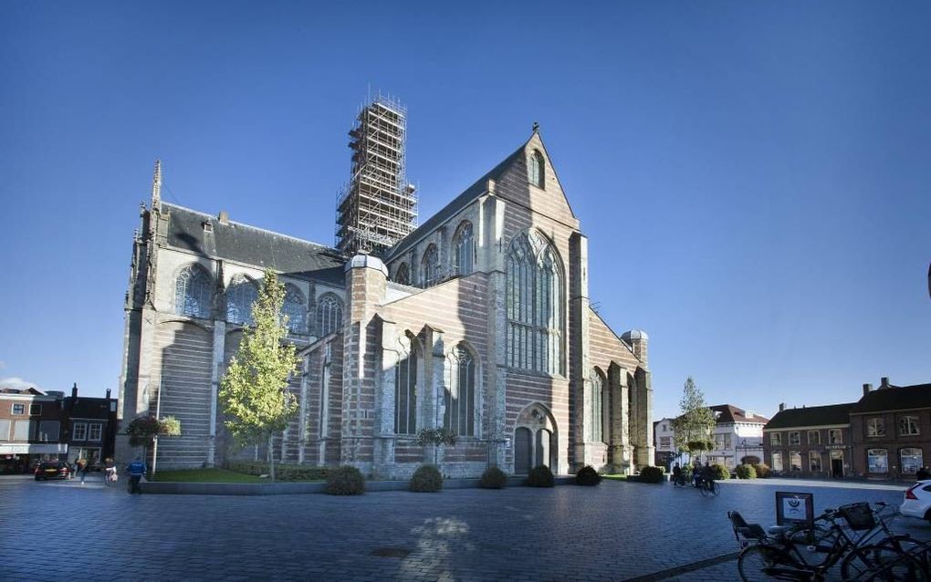
<instances>
[{"instance_id":1,"label":"tallest pointed arch window, above the church's arched entrance door","mask_svg":"<svg viewBox=\"0 0 931 582\"><path fill-rule=\"evenodd\" d=\"M506 277L508 365L562 373L562 268L556 250L536 231L514 237Z\"/></svg>"}]
</instances>

